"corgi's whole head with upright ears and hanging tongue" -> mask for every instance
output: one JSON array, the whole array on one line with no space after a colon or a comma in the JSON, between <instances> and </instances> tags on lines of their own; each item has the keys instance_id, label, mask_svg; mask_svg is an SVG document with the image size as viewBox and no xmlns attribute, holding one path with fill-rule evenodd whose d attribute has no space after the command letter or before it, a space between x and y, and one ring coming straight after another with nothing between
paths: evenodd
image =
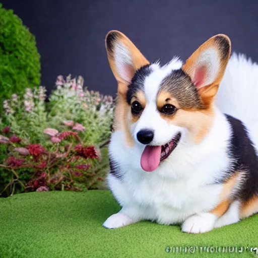
<instances>
[{"instance_id":1,"label":"corgi's whole head with upright ears and hanging tongue","mask_svg":"<svg viewBox=\"0 0 258 258\"><path fill-rule=\"evenodd\" d=\"M114 130L128 146L145 146L141 166L155 170L186 137L199 144L212 125L213 102L230 57L227 36L202 44L185 63L150 63L119 31L106 36L109 64L118 83Z\"/></svg>"}]
</instances>

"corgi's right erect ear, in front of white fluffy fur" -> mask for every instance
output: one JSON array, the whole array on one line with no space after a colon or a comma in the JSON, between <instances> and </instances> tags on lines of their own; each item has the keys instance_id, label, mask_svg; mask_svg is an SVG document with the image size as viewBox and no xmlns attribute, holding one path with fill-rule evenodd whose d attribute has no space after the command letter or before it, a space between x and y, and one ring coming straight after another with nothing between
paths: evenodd
<instances>
[{"instance_id":1,"label":"corgi's right erect ear, in front of white fluffy fur","mask_svg":"<svg viewBox=\"0 0 258 258\"><path fill-rule=\"evenodd\" d=\"M218 34L203 43L182 67L206 105L212 102L218 91L230 54L230 39Z\"/></svg>"}]
</instances>

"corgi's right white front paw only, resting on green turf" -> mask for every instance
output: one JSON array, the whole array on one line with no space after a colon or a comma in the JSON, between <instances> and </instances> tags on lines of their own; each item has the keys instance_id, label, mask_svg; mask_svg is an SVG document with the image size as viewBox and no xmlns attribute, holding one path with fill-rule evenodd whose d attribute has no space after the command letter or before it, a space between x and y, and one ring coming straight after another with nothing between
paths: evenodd
<instances>
[{"instance_id":1,"label":"corgi's right white front paw only, resting on green turf","mask_svg":"<svg viewBox=\"0 0 258 258\"><path fill-rule=\"evenodd\" d=\"M217 216L212 213L202 213L188 217L182 224L182 232L205 233L214 229Z\"/></svg>"}]
</instances>

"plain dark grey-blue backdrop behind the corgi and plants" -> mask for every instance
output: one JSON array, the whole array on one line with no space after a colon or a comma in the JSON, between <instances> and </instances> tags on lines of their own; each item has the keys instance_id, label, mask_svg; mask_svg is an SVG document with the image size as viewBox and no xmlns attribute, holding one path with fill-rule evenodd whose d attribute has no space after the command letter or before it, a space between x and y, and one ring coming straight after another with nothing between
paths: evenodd
<instances>
[{"instance_id":1,"label":"plain dark grey-blue backdrop behind the corgi and plants","mask_svg":"<svg viewBox=\"0 0 258 258\"><path fill-rule=\"evenodd\" d=\"M0 0L1 1L1 0ZM49 90L59 74L82 75L90 89L115 95L104 38L126 34L150 60L186 59L211 36L224 33L234 51L258 61L257 0L6 0L35 35L41 84Z\"/></svg>"}]
</instances>

